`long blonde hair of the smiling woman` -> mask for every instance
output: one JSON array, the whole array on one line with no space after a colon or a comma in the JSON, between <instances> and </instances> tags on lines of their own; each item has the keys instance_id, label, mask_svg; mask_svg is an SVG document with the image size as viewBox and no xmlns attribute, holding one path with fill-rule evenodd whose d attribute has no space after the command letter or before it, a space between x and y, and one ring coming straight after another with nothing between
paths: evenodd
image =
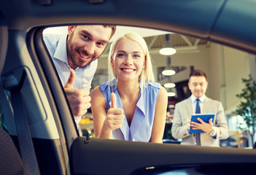
<instances>
[{"instance_id":1,"label":"long blonde hair of the smiling woman","mask_svg":"<svg viewBox=\"0 0 256 175\"><path fill-rule=\"evenodd\" d=\"M115 71L111 65L111 57L114 58L114 51L115 51L115 46L117 44L117 42L120 41L120 39L131 39L134 42L139 43L139 45L141 46L144 55L145 55L145 67L144 69L142 69L141 74L139 76L139 81L141 82L142 87L145 86L145 82L155 82L155 77L154 77L154 73L152 70L152 63L151 63L151 58L150 58L150 51L147 47L147 43L145 42L145 40L143 39L142 36L140 36L139 34L137 34L134 31L128 31L127 33L119 36L114 42L112 42L110 49L109 49L109 58L108 58L108 72L109 72L109 81L112 79L116 78L116 74ZM141 88L143 89L143 88Z\"/></svg>"}]
</instances>

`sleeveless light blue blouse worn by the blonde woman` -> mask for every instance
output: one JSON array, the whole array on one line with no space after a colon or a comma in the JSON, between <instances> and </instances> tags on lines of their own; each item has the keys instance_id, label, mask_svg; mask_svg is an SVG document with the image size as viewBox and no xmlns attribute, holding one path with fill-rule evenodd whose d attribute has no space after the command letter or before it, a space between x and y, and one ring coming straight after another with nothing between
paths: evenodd
<instances>
[{"instance_id":1,"label":"sleeveless light blue blouse worn by the blonde woman","mask_svg":"<svg viewBox=\"0 0 256 175\"><path fill-rule=\"evenodd\" d=\"M123 109L123 104L117 90L116 79L113 79L111 82L104 82L99 85L99 88L104 94L104 98L106 100L106 112L111 106L110 96L112 92L117 96L117 108ZM112 139L145 142L150 141L155 116L155 104L158 99L159 90L159 83L146 82L142 96L141 93L139 94L139 99L136 104L136 109L134 111L130 127L125 117L121 128L112 131Z\"/></svg>"}]
</instances>

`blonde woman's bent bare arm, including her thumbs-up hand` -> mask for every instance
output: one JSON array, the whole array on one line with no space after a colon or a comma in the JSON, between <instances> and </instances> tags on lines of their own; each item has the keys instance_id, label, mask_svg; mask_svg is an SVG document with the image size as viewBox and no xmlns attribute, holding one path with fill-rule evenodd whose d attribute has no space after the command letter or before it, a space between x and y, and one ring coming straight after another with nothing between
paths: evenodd
<instances>
[{"instance_id":1,"label":"blonde woman's bent bare arm, including her thumbs-up hand","mask_svg":"<svg viewBox=\"0 0 256 175\"><path fill-rule=\"evenodd\" d=\"M115 93L111 95L112 105L107 113L106 101L98 86L93 89L91 98L95 136L98 138L112 139L112 131L120 128L124 119L123 109L115 107Z\"/></svg>"}]
</instances>

